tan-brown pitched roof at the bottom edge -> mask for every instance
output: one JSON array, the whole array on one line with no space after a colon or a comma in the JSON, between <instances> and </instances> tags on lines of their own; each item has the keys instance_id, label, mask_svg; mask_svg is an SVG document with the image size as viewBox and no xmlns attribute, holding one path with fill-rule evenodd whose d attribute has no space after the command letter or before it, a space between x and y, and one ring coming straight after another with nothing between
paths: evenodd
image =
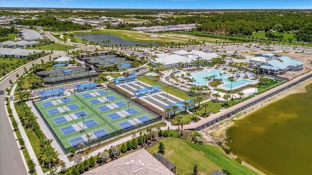
<instances>
[{"instance_id":1,"label":"tan-brown pitched roof at the bottom edge","mask_svg":"<svg viewBox=\"0 0 312 175\"><path fill-rule=\"evenodd\" d=\"M145 149L102 165L83 175L174 175Z\"/></svg>"}]
</instances>

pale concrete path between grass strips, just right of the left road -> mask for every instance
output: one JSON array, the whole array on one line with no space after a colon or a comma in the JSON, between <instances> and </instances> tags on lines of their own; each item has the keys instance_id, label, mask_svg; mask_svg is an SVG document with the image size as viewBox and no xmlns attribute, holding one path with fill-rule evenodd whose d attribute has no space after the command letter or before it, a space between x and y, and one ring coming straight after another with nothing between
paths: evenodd
<instances>
[{"instance_id":1,"label":"pale concrete path between grass strips, just right of the left road","mask_svg":"<svg viewBox=\"0 0 312 175\"><path fill-rule=\"evenodd\" d=\"M17 84L15 84L13 86L13 88L11 90L11 94L10 94L11 96L14 96L14 91L15 91L16 87L17 87ZM37 157L35 155L34 149L33 149L33 147L30 144L30 141L29 141L29 139L28 139L28 137L26 135L26 132L25 132L23 126L20 124L20 118L19 118L19 115L18 115L17 111L15 110L14 101L13 100L10 101L10 107L12 109L12 114L13 114L14 119L16 120L17 123L19 123L18 127L19 127L19 131L20 131L20 135L22 136L22 138L23 138L23 140L25 142L25 147L26 147L26 149L28 151L28 154L29 154L30 158L34 160L34 162L36 164L36 173L38 175L43 175L43 171L42 171L42 169L41 169L41 167L39 165L39 161L38 161L38 159L37 159ZM27 167L27 164L25 166Z\"/></svg>"}]
</instances>

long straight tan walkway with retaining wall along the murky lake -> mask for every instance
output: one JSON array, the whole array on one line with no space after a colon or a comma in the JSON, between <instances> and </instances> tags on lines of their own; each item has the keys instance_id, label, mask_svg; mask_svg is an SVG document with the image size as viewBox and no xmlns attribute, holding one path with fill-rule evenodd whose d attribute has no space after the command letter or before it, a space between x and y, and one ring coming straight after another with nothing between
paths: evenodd
<instances>
[{"instance_id":1,"label":"long straight tan walkway with retaining wall along the murky lake","mask_svg":"<svg viewBox=\"0 0 312 175\"><path fill-rule=\"evenodd\" d=\"M239 103L237 105L231 106L227 109L224 109L216 114L211 115L210 117L204 118L197 123L192 124L186 124L183 126L183 129L195 129L195 130L201 130L203 128L206 128L212 124L215 124L223 119L229 118L230 116L238 113L239 111L242 111L252 105L256 105L257 103L272 97L273 95L276 95L280 92L283 92L286 89L292 88L294 85L297 85L309 78L312 78L312 71L300 75L294 79L292 79L289 82L286 82L285 84L282 84L276 88L270 89L266 92L263 92L262 94L256 95L255 97L248 99L242 103Z\"/></svg>"}]
</instances>

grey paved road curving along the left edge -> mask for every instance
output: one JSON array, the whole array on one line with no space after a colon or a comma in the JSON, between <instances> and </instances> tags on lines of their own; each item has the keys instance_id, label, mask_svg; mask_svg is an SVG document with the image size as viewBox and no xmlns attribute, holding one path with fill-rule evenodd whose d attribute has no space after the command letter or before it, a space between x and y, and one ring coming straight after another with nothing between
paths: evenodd
<instances>
[{"instance_id":1,"label":"grey paved road curving along the left edge","mask_svg":"<svg viewBox=\"0 0 312 175\"><path fill-rule=\"evenodd\" d=\"M64 54L64 52L59 52L51 57L58 57L59 55ZM49 56L43 59L44 61L49 60ZM41 63L40 60L37 60L35 63ZM26 66L29 69L32 65ZM12 73L5 78L0 83L1 90L10 86L9 80L12 81L16 79L16 74L23 74L24 70L20 69ZM17 142L14 138L11 125L9 123L9 118L4 109L4 97L5 95L0 95L0 175L26 175L26 168L22 161L20 151L17 145Z\"/></svg>"}]
</instances>

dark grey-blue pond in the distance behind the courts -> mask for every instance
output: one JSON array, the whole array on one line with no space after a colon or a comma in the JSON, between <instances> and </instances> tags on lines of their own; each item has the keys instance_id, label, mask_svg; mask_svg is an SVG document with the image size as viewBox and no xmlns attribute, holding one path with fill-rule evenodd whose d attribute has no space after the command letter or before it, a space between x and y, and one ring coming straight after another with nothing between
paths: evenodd
<instances>
[{"instance_id":1,"label":"dark grey-blue pond in the distance behind the courts","mask_svg":"<svg viewBox=\"0 0 312 175\"><path fill-rule=\"evenodd\" d=\"M109 40L109 45L112 46L136 46L136 44L143 44L147 45L149 42L143 41L131 41L122 39L121 36L118 35L111 35L111 34L80 34L76 35L81 39L87 39L88 41L98 42L99 44L105 45L102 43L103 40Z\"/></svg>"}]
</instances>

